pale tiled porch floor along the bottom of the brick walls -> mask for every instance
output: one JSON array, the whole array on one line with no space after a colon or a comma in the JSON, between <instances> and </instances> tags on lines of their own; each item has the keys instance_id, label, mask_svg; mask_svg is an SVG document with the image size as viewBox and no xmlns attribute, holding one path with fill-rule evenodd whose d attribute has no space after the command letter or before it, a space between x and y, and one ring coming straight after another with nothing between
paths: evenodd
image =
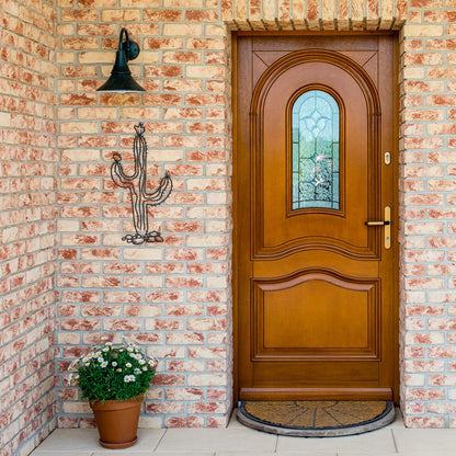
<instances>
[{"instance_id":1,"label":"pale tiled porch floor along the bottom of the brick walls","mask_svg":"<svg viewBox=\"0 0 456 456\"><path fill-rule=\"evenodd\" d=\"M140 429L127 449L105 449L96 430L56 430L31 456L454 456L456 429L407 430L400 413L391 425L362 435L331 438L284 437L244 428Z\"/></svg>"}]
</instances>

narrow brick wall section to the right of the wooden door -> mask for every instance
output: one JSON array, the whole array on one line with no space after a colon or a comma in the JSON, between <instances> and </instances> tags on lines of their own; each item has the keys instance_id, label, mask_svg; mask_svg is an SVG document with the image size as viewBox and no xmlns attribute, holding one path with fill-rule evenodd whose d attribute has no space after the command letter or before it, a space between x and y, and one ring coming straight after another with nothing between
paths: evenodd
<instances>
[{"instance_id":1,"label":"narrow brick wall section to the right of the wooden door","mask_svg":"<svg viewBox=\"0 0 456 456\"><path fill-rule=\"evenodd\" d=\"M400 34L406 423L456 428L456 2L411 1Z\"/></svg>"}]
</instances>

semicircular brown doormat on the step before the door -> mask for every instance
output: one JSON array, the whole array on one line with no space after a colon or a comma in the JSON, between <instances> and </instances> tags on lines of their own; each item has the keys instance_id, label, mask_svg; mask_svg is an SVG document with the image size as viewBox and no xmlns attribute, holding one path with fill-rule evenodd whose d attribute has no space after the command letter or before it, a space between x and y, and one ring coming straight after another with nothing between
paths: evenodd
<instances>
[{"instance_id":1,"label":"semicircular brown doormat on the step before the door","mask_svg":"<svg viewBox=\"0 0 456 456\"><path fill-rule=\"evenodd\" d=\"M240 403L237 418L271 434L337 437L386 426L395 421L395 407L391 401L246 401Z\"/></svg>"}]
</instances>

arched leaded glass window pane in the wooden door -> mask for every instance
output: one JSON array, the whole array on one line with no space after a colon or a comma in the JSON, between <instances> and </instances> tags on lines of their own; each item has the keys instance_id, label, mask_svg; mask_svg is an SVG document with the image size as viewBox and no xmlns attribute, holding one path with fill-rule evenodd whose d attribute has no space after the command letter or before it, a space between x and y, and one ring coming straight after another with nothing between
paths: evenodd
<instances>
[{"instance_id":1,"label":"arched leaded glass window pane in the wooden door","mask_svg":"<svg viewBox=\"0 0 456 456\"><path fill-rule=\"evenodd\" d=\"M335 100L322 90L309 90L292 111L292 208L340 208L339 130Z\"/></svg>"}]
</instances>

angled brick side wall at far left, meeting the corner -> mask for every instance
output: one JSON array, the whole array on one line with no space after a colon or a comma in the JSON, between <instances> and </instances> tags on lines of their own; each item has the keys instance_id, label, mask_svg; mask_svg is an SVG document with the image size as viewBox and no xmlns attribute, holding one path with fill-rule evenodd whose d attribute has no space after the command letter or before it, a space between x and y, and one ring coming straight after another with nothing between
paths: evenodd
<instances>
[{"instance_id":1,"label":"angled brick side wall at far left, meeting the corner","mask_svg":"<svg viewBox=\"0 0 456 456\"><path fill-rule=\"evenodd\" d=\"M0 454L55 426L55 8L0 3Z\"/></svg>"}]
</instances>

